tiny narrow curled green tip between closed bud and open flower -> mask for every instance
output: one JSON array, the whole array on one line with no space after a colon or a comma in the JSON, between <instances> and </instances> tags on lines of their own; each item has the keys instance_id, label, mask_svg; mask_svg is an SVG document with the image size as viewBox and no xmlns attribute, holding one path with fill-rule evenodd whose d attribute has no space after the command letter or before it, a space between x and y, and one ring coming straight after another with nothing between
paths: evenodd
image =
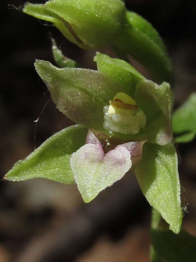
<instances>
[{"instance_id":1,"label":"tiny narrow curled green tip between closed bud and open flower","mask_svg":"<svg viewBox=\"0 0 196 262\"><path fill-rule=\"evenodd\" d=\"M62 54L62 51L57 47L57 44L53 38L52 41L52 51L53 57L55 62L57 63L58 67L65 68L65 67L78 67L78 63Z\"/></svg>"}]
</instances>

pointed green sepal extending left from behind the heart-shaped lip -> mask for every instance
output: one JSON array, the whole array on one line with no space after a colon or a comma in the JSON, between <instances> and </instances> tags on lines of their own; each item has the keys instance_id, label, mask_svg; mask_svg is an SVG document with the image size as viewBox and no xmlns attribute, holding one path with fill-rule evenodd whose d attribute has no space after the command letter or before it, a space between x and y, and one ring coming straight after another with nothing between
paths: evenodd
<instances>
[{"instance_id":1,"label":"pointed green sepal extending left from behind the heart-shaped lip","mask_svg":"<svg viewBox=\"0 0 196 262\"><path fill-rule=\"evenodd\" d=\"M55 133L29 156L19 160L4 179L20 181L40 177L65 184L74 183L69 159L85 144L87 133L88 129L83 125L73 125Z\"/></svg>"}]
</instances>

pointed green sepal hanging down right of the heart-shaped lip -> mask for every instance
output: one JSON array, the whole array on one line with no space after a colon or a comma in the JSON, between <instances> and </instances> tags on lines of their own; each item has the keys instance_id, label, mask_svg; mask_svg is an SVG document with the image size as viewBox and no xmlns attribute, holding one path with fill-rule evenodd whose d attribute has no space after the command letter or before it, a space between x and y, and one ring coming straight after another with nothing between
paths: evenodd
<instances>
[{"instance_id":1,"label":"pointed green sepal hanging down right of the heart-shaped lip","mask_svg":"<svg viewBox=\"0 0 196 262\"><path fill-rule=\"evenodd\" d=\"M145 143L135 174L150 205L157 209L170 225L170 229L178 233L182 222L182 209L178 158L174 145Z\"/></svg>"}]
</instances>

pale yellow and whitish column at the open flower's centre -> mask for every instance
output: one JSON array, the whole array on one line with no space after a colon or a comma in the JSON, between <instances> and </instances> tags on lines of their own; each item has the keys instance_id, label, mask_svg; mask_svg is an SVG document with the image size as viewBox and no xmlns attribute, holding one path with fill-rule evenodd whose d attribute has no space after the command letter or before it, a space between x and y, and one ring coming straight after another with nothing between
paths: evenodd
<instances>
[{"instance_id":1,"label":"pale yellow and whitish column at the open flower's centre","mask_svg":"<svg viewBox=\"0 0 196 262\"><path fill-rule=\"evenodd\" d=\"M146 116L129 95L119 92L109 104L104 107L104 128L122 134L137 134L144 128Z\"/></svg>"}]
</instances>

